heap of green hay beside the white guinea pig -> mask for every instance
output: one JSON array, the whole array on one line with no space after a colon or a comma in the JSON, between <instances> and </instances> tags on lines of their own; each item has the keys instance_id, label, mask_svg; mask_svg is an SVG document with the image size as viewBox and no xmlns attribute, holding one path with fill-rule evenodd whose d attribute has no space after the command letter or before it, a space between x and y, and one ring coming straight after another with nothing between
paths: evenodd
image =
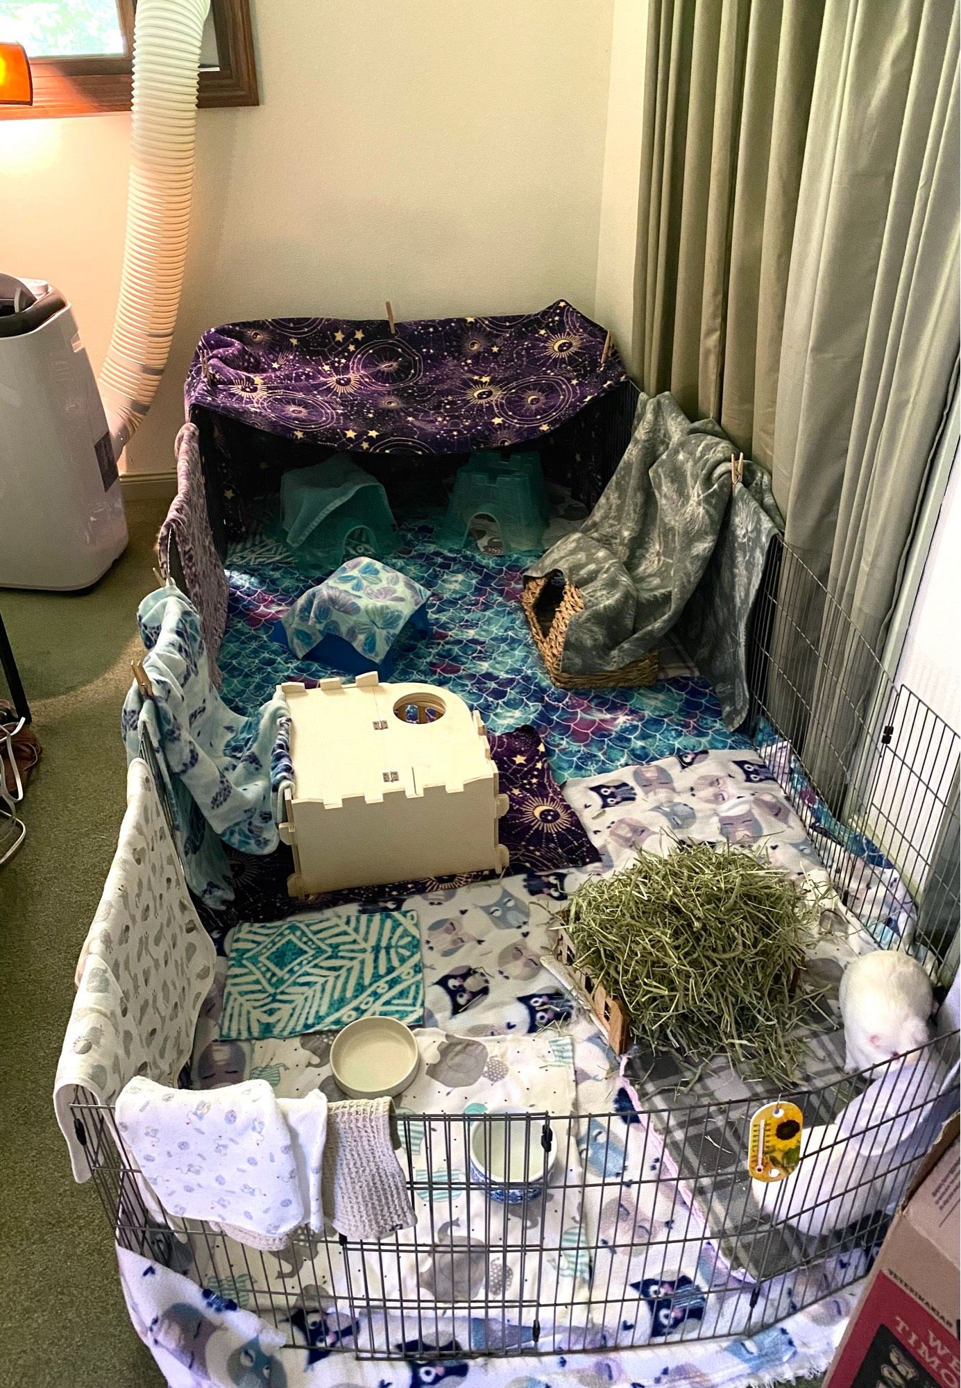
<instances>
[{"instance_id":1,"label":"heap of green hay beside the white guinea pig","mask_svg":"<svg viewBox=\"0 0 961 1388\"><path fill-rule=\"evenodd\" d=\"M805 997L799 969L819 905L753 852L682 844L574 894L576 965L624 1006L644 1051L696 1063L725 1051L751 1078L789 1083Z\"/></svg>"}]
</instances>

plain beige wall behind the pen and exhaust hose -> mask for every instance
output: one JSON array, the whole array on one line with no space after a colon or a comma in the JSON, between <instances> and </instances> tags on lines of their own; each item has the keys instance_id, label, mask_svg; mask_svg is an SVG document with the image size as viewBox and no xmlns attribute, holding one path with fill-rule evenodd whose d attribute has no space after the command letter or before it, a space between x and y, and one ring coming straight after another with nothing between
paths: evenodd
<instances>
[{"instance_id":1,"label":"plain beige wall behind the pen and exhaust hose","mask_svg":"<svg viewBox=\"0 0 961 1388\"><path fill-rule=\"evenodd\" d=\"M643 3L643 0L628 0ZM169 466L193 346L268 314L594 312L614 0L253 0L262 105L201 111L175 348L129 471ZM128 117L0 124L0 265L72 300L94 365Z\"/></svg>"}]
</instances>

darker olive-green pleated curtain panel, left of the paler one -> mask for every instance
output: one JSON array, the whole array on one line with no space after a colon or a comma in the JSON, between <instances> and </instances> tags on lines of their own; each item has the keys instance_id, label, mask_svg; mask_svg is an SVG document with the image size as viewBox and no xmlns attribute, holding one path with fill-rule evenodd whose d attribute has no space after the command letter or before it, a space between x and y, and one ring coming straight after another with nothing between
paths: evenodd
<instances>
[{"instance_id":1,"label":"darker olive-green pleated curtain panel, left of the paler one","mask_svg":"<svg viewBox=\"0 0 961 1388\"><path fill-rule=\"evenodd\" d=\"M650 0L635 373L771 465L825 0Z\"/></svg>"}]
</instances>

